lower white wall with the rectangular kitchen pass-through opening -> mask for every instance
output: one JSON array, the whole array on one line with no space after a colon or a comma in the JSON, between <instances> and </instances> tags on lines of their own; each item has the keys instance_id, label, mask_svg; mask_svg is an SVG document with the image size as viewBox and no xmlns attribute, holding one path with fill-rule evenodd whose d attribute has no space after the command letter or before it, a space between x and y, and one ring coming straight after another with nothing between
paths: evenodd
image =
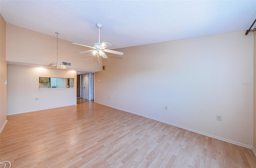
<instances>
[{"instance_id":1,"label":"lower white wall with the rectangular kitchen pass-through opening","mask_svg":"<svg viewBox=\"0 0 256 168\"><path fill-rule=\"evenodd\" d=\"M75 87L39 90L40 76L74 78ZM7 115L76 105L76 71L8 64L7 81Z\"/></svg>"}]
</instances>

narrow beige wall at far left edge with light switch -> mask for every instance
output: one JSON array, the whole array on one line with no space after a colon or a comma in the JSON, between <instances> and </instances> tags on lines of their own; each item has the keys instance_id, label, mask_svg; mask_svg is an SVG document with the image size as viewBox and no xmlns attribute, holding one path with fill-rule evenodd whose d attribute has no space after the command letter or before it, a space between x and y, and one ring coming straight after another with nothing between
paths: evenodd
<instances>
[{"instance_id":1,"label":"narrow beige wall at far left edge with light switch","mask_svg":"<svg viewBox=\"0 0 256 168\"><path fill-rule=\"evenodd\" d=\"M0 14L0 133L6 123L6 22Z\"/></svg>"}]
</instances>

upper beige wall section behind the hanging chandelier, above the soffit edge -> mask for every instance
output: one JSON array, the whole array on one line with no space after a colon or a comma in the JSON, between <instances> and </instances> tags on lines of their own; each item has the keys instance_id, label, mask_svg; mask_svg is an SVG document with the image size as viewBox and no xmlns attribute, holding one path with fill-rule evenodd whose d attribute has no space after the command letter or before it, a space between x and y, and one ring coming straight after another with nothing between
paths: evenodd
<instances>
[{"instance_id":1,"label":"upper beige wall section behind the hanging chandelier, above the soffit edge","mask_svg":"<svg viewBox=\"0 0 256 168\"><path fill-rule=\"evenodd\" d=\"M70 62L70 69L96 72L102 70L102 63L98 63L90 53L79 54L90 48L72 45L70 41L61 39L58 35L58 61ZM6 24L6 61L8 64L47 66L56 62L56 33L53 36L36 31Z\"/></svg>"}]
</instances>

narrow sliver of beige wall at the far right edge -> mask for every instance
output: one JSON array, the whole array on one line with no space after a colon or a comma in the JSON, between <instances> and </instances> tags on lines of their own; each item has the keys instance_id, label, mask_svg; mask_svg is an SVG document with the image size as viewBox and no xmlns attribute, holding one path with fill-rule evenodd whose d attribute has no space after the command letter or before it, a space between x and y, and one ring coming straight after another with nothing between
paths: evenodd
<instances>
[{"instance_id":1,"label":"narrow sliver of beige wall at the far right edge","mask_svg":"<svg viewBox=\"0 0 256 168\"><path fill-rule=\"evenodd\" d=\"M253 59L253 66L254 66L254 131L253 131L253 147L254 147L254 154L256 154L256 32L254 34L254 59Z\"/></svg>"}]
</instances>

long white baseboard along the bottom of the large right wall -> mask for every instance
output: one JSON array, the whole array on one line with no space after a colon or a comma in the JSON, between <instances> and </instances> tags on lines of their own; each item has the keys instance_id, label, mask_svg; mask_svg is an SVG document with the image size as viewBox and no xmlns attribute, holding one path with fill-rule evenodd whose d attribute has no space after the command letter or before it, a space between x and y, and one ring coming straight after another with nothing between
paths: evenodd
<instances>
[{"instance_id":1,"label":"long white baseboard along the bottom of the large right wall","mask_svg":"<svg viewBox=\"0 0 256 168\"><path fill-rule=\"evenodd\" d=\"M95 101L94 101L95 102ZM95 102L95 103L98 103L98 102ZM101 104L101 103L98 103L98 104ZM102 104L102 105L105 105L105 104ZM106 105L108 107L112 107L110 105ZM192 131L194 133L198 133L198 134L201 134L201 135L205 135L205 136L208 136L208 137L211 137L211 138L215 138L215 139L218 139L218 140L221 140L221 141L225 141L225 142L228 142L228 143L232 143L234 145L239 145L241 147L245 147L245 148L249 148L249 149L252 149L253 147L250 146L250 145L246 145L246 144L243 144L243 143L239 143L239 142L236 142L236 141L232 141L232 140L229 140L229 139L225 139L225 138L222 138L222 137L218 137L218 136L215 136L215 135L211 135L211 134L207 134L207 133L203 133L203 132L200 132L200 131L196 131L194 129L190 129L190 128L187 128L187 127L183 127L183 126L180 126L180 125L176 125L174 123L169 123L169 122L166 122L166 121L162 121L160 119L156 119L156 118L153 118L153 117L149 117L147 115L142 115L142 114L139 114L139 113L134 113L132 111L127 111L127 110L124 110L124 109L120 109L120 108L117 108L117 107L112 107L112 108L115 108L115 109L119 109L119 110L122 110L122 111L126 111L126 112L129 112L129 113L133 113L133 114L136 114L136 115L140 115L142 117L146 117L146 118L150 118L150 119L154 119L156 121L160 121L162 123L166 123L166 124L169 124L169 125L173 125L175 127L179 127L179 128L182 128L182 129L186 129L188 131ZM254 154L256 154L256 152L254 151ZM255 155L256 156L256 155Z\"/></svg>"}]
</instances>

